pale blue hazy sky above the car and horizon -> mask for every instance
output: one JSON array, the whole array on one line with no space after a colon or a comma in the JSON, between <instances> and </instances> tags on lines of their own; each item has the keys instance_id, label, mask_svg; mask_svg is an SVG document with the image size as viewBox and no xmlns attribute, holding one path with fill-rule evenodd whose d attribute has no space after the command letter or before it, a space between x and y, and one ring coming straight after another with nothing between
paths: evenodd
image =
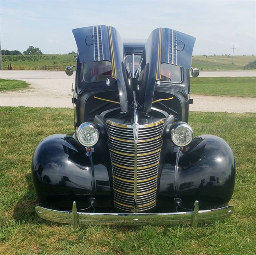
<instances>
[{"instance_id":1,"label":"pale blue hazy sky above the car and horizon","mask_svg":"<svg viewBox=\"0 0 256 255\"><path fill-rule=\"evenodd\" d=\"M196 37L194 55L256 55L256 1L0 1L2 49L76 51L73 28L110 25L124 40L154 28ZM130 41L130 40L129 40Z\"/></svg>"}]
</instances>

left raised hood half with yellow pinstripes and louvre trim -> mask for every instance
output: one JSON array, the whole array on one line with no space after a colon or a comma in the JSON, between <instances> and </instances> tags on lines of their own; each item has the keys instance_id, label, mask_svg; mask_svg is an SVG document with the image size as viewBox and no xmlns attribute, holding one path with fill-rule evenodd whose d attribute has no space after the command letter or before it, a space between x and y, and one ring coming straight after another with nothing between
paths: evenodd
<instances>
[{"instance_id":1,"label":"left raised hood half with yellow pinstripes and louvre trim","mask_svg":"<svg viewBox=\"0 0 256 255\"><path fill-rule=\"evenodd\" d=\"M127 112L133 105L130 71L125 63L126 52L118 31L111 26L90 26L72 30L79 52L80 63L110 61L111 77L116 79L120 107Z\"/></svg>"}]
</instances>

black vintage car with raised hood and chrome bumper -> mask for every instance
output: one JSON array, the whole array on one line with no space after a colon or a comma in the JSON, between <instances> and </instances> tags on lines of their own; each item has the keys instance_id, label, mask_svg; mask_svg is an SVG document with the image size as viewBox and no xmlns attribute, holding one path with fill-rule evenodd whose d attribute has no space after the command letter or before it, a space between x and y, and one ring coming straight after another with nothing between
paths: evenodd
<instances>
[{"instance_id":1,"label":"black vintage car with raised hood and chrome bumper","mask_svg":"<svg viewBox=\"0 0 256 255\"><path fill-rule=\"evenodd\" d=\"M50 135L34 152L36 213L75 228L195 227L230 216L232 150L220 137L193 137L188 125L195 38L158 28L146 44L123 44L111 26L72 31L75 132Z\"/></svg>"}]
</instances>

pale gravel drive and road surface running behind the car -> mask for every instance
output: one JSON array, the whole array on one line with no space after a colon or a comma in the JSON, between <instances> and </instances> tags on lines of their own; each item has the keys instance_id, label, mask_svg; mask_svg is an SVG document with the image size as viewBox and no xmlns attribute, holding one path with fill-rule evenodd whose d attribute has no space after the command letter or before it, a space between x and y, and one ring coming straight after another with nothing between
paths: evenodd
<instances>
[{"instance_id":1,"label":"pale gravel drive and road surface running behind the car","mask_svg":"<svg viewBox=\"0 0 256 255\"><path fill-rule=\"evenodd\" d=\"M256 76L255 71L205 71L200 77ZM0 71L3 79L25 80L30 88L18 92L1 92L0 106L72 108L71 88L75 76L64 71ZM256 112L256 98L191 95L190 110L201 112Z\"/></svg>"}]
</instances>

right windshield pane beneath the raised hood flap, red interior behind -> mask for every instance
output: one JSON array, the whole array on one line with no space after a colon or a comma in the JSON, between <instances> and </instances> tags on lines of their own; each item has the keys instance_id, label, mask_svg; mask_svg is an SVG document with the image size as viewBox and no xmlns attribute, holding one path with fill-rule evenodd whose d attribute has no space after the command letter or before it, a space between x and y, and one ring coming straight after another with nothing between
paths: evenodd
<instances>
[{"instance_id":1,"label":"right windshield pane beneath the raised hood flap, red interior behind","mask_svg":"<svg viewBox=\"0 0 256 255\"><path fill-rule=\"evenodd\" d=\"M171 64L163 63L160 66L162 81L164 82L181 82L181 68Z\"/></svg>"}]
</instances>

